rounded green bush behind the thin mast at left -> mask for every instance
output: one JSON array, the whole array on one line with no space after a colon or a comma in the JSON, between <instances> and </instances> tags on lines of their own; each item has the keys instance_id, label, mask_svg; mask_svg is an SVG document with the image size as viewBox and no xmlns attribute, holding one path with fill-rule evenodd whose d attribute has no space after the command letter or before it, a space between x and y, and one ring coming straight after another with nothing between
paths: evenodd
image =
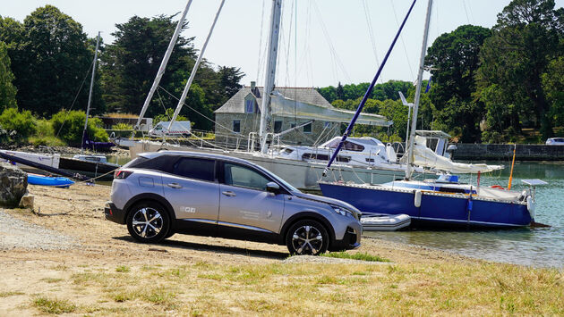
<instances>
[{"instance_id":1,"label":"rounded green bush behind the thin mast at left","mask_svg":"<svg viewBox=\"0 0 564 317\"><path fill-rule=\"evenodd\" d=\"M51 118L51 124L58 138L61 138L69 146L81 146L82 130L86 114L81 111L66 112L64 110L56 113ZM102 129L102 121L98 118L88 120L88 135L93 141L106 142L107 132Z\"/></svg>"}]
</instances>

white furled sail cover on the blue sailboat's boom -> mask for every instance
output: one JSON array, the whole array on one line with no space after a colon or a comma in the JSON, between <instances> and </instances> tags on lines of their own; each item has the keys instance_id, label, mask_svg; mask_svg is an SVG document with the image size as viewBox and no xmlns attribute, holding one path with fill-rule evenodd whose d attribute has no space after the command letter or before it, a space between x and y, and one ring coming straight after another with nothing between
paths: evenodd
<instances>
[{"instance_id":1,"label":"white furled sail cover on the blue sailboat's boom","mask_svg":"<svg viewBox=\"0 0 564 317\"><path fill-rule=\"evenodd\" d=\"M449 171L453 174L467 174L497 171L503 169L503 165L487 165L487 164L465 164L455 163L449 158L436 154L429 147L425 146L425 138L415 136L414 157L412 163L417 166L429 167L440 171ZM402 161L406 160L406 156ZM405 163L405 162L402 162Z\"/></svg>"}]
</instances>

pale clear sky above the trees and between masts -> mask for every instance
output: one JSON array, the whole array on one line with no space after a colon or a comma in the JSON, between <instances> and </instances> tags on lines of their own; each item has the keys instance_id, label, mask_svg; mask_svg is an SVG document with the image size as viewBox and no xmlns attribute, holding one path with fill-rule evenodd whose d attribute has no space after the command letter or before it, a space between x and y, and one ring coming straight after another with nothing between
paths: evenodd
<instances>
[{"instance_id":1,"label":"pale clear sky above the trees and between masts","mask_svg":"<svg viewBox=\"0 0 564 317\"><path fill-rule=\"evenodd\" d=\"M113 42L115 24L133 15L181 13L187 0L2 0L0 15L23 21L36 8L55 5L81 23L89 37L98 30ZM464 24L491 28L510 0L434 0L428 46L441 34ZM189 29L200 50L221 0L193 0ZM417 0L401 39L378 82L416 78L427 0ZM338 82L370 82L412 0L283 0L278 49L278 87L326 87ZM226 0L204 57L216 66L240 67L242 83L264 82L265 47L272 0ZM562 7L564 0L556 0ZM178 17L180 14L178 14ZM177 18L175 18L177 19ZM297 28L296 28L297 26ZM370 27L369 27L370 26ZM261 47L261 49L260 49ZM165 52L163 52L165 54ZM297 61L297 63L296 63ZM428 74L427 74L428 76Z\"/></svg>"}]
</instances>

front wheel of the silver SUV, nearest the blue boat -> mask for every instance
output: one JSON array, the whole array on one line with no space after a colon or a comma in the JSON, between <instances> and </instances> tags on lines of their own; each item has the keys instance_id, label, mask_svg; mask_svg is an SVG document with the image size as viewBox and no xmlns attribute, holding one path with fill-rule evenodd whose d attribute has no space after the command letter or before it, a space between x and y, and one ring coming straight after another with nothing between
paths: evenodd
<instances>
[{"instance_id":1,"label":"front wheel of the silver SUV, nearest the blue boat","mask_svg":"<svg viewBox=\"0 0 564 317\"><path fill-rule=\"evenodd\" d=\"M329 247L329 234L318 221L297 221L286 233L286 246L290 254L323 254Z\"/></svg>"}]
</instances>

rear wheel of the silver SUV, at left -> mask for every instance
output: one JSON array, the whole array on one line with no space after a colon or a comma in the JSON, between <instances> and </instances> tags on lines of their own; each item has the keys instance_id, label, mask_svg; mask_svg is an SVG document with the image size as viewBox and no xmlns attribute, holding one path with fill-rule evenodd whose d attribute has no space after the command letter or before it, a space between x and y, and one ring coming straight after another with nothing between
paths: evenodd
<instances>
[{"instance_id":1,"label":"rear wheel of the silver SUV, at left","mask_svg":"<svg viewBox=\"0 0 564 317\"><path fill-rule=\"evenodd\" d=\"M139 242L158 243L169 237L170 216L165 207L156 202L135 204L127 214L127 229Z\"/></svg>"}]
</instances>

